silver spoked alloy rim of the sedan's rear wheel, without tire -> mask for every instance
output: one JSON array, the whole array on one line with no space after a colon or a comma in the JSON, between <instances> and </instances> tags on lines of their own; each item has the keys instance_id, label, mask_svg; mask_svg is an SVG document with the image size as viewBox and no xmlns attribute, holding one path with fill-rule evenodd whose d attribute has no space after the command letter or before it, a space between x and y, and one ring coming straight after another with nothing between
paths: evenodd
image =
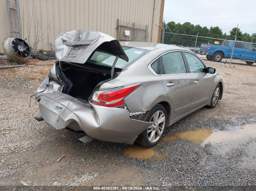
<instances>
[{"instance_id":1,"label":"silver spoked alloy rim of the sedan's rear wheel, without tire","mask_svg":"<svg viewBox=\"0 0 256 191\"><path fill-rule=\"evenodd\" d=\"M162 111L157 111L151 117L150 122L153 123L148 127L148 140L151 143L156 142L162 135L165 128L165 114Z\"/></svg>"}]
</instances>

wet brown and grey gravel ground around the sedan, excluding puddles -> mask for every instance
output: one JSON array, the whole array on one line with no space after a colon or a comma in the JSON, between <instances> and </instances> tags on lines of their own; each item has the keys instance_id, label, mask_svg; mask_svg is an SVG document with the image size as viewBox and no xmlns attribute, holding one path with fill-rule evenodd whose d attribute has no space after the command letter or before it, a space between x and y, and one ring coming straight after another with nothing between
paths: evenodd
<instances>
[{"instance_id":1,"label":"wet brown and grey gravel ground around the sedan, excluding puddles","mask_svg":"<svg viewBox=\"0 0 256 191\"><path fill-rule=\"evenodd\" d=\"M195 186L255 186L255 133L246 138L238 135L234 145L225 140L195 144L172 137L195 129L232 133L246 131L248 124L256 127L256 67L204 62L224 78L222 100L214 109L201 108L168 127L164 139L151 149L153 156L144 160L124 154L125 148L136 149L136 145L98 140L82 145L78 138L83 135L55 130L34 119L39 115L38 103L32 99L30 104L30 95L53 60L31 59L26 67L1 69L0 133L7 134L0 135L0 185L21 186L24 181L34 186L155 185L191 190ZM62 154L64 158L57 162Z\"/></svg>"}]
</instances>

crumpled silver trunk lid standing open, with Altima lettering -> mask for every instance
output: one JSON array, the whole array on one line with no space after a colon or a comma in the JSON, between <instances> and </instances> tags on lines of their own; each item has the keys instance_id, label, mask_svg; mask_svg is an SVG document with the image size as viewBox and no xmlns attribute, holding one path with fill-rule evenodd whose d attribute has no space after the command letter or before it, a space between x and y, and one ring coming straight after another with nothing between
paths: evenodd
<instances>
[{"instance_id":1,"label":"crumpled silver trunk lid standing open, with Altima lettering","mask_svg":"<svg viewBox=\"0 0 256 191\"><path fill-rule=\"evenodd\" d=\"M59 61L84 64L97 49L128 62L128 56L118 40L97 31L73 30L60 33L55 40L55 49Z\"/></svg>"}]
</instances>

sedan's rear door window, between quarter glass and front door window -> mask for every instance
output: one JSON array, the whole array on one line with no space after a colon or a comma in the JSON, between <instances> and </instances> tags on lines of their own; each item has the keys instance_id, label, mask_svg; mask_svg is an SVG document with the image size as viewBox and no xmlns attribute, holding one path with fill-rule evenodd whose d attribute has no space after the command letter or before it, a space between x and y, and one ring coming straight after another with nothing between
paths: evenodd
<instances>
[{"instance_id":1,"label":"sedan's rear door window, between quarter glass and front door window","mask_svg":"<svg viewBox=\"0 0 256 191\"><path fill-rule=\"evenodd\" d=\"M186 73L185 63L181 52L171 52L161 56L163 63L163 74Z\"/></svg>"}]
</instances>

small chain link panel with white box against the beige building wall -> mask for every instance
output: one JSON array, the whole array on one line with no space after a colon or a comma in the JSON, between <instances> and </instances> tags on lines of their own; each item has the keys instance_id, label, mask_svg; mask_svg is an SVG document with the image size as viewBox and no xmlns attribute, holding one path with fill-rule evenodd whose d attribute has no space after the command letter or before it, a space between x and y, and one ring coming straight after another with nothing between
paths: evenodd
<instances>
[{"instance_id":1,"label":"small chain link panel with white box against the beige building wall","mask_svg":"<svg viewBox=\"0 0 256 191\"><path fill-rule=\"evenodd\" d=\"M117 19L117 40L148 42L148 25Z\"/></svg>"}]
</instances>

